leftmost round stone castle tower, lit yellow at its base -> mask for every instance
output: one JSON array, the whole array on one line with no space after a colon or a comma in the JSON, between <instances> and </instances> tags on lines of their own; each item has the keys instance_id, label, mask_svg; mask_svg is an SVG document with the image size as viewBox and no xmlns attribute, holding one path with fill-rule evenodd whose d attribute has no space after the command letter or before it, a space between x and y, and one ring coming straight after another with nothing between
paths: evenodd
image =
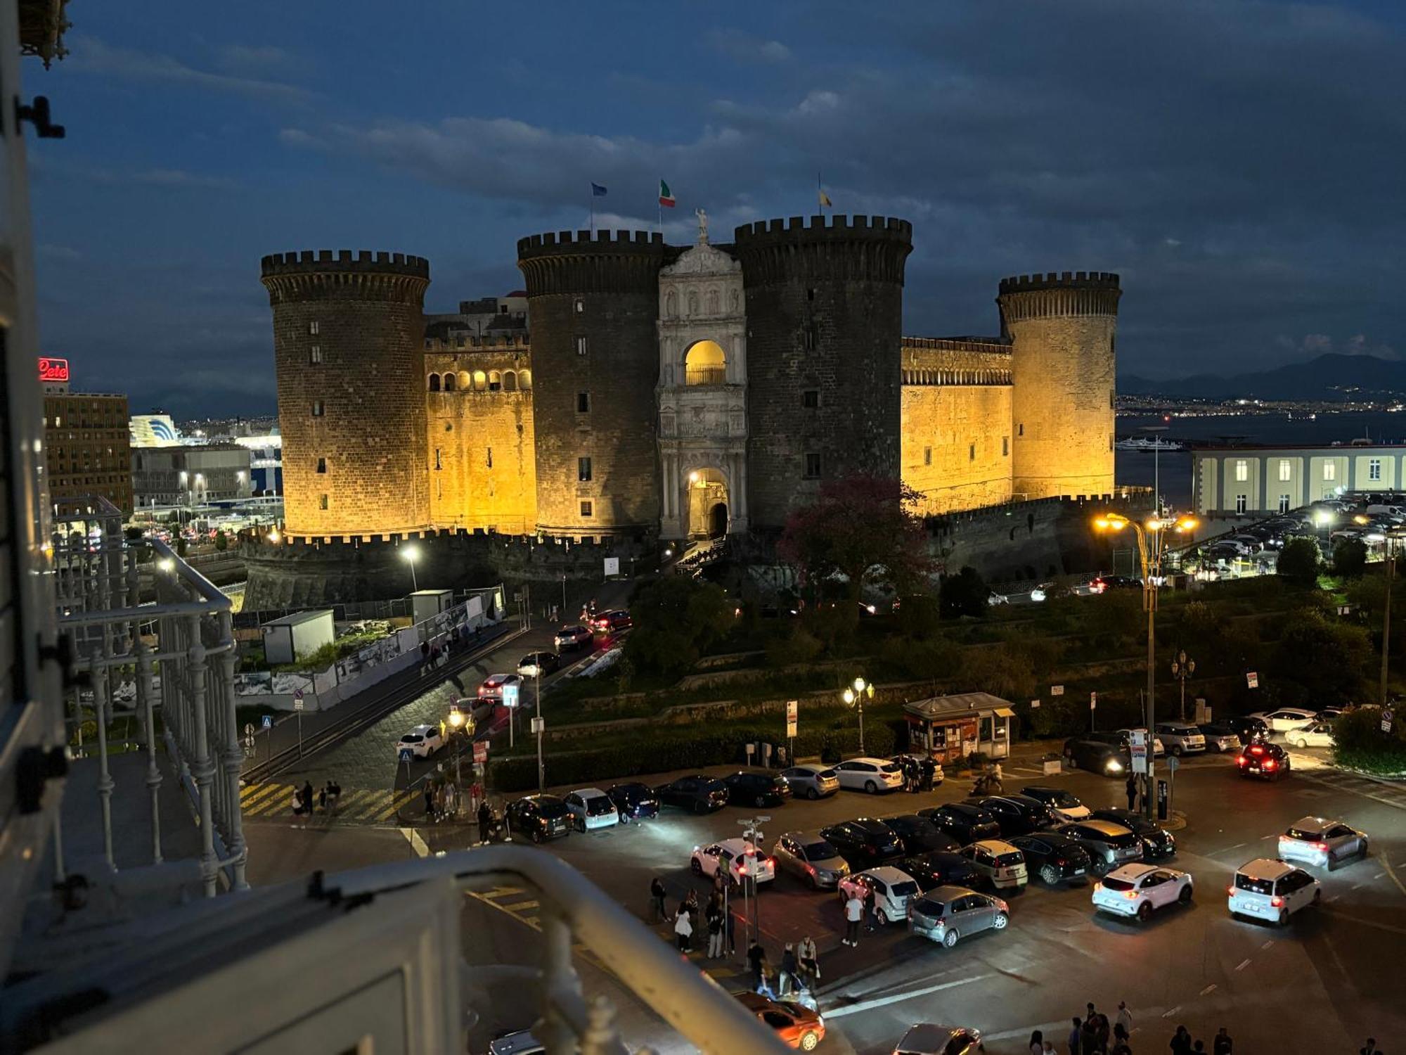
<instances>
[{"instance_id":1,"label":"leftmost round stone castle tower, lit yellow at its base","mask_svg":"<svg viewBox=\"0 0 1406 1055\"><path fill-rule=\"evenodd\" d=\"M429 525L425 288L429 262L330 249L263 257L273 307L290 537Z\"/></svg>"}]
</instances>

